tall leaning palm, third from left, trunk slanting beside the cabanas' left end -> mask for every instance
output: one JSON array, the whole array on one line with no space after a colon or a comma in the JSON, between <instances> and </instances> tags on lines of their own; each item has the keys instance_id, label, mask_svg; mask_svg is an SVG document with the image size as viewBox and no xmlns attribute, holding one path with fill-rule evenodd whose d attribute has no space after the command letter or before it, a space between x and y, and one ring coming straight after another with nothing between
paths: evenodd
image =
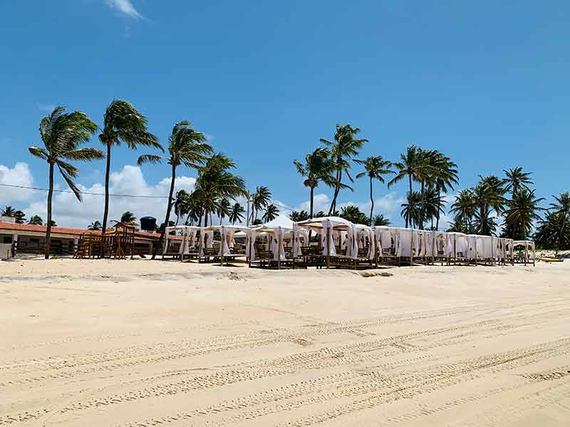
<instances>
[{"instance_id":1,"label":"tall leaning palm, third from left, trunk slanting beside the cabanas' left end","mask_svg":"<svg viewBox=\"0 0 570 427\"><path fill-rule=\"evenodd\" d=\"M172 128L172 134L168 138L168 154L167 163L170 164L172 176L170 178L170 191L168 193L168 202L166 207L165 224L170 221L170 211L172 209L172 194L176 182L176 168L181 164L192 169L198 169L207 160L208 155L213 150L207 143L207 138L201 132L192 129L192 125L187 120L178 122ZM162 147L161 147L162 148ZM138 158L138 164L144 163L160 163L162 157L154 154L143 154ZM164 228L160 233L160 241L155 250L152 251L152 259L156 257L158 248L162 245L165 238Z\"/></svg>"}]
</instances>

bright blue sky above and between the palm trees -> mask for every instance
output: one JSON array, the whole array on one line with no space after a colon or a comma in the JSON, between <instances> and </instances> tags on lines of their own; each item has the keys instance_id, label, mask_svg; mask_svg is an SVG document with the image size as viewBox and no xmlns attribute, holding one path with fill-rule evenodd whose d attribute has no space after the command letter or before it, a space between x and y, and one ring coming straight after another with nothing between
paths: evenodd
<instances>
[{"instance_id":1,"label":"bright blue sky above and between the palm trees","mask_svg":"<svg viewBox=\"0 0 570 427\"><path fill-rule=\"evenodd\" d=\"M413 143L439 149L458 164L460 188L520 165L548 197L570 187L569 23L565 1L4 1L0 179L46 185L46 164L27 147L40 143L51 106L101 124L108 103L124 98L162 142L190 120L250 188L266 184L289 206L308 199L291 160L337 123L361 128L363 157L395 160ZM117 189L162 191L165 165L123 168L137 155L113 152ZM81 165L78 181L97 189L103 169ZM180 174L190 185L194 172ZM318 193L326 201L330 191ZM395 223L403 194L403 185L375 187ZM42 197L0 189L3 205L41 211ZM367 199L364 180L341 193L363 207ZM100 216L93 206L78 208L81 221ZM73 222L64 214L61 225Z\"/></svg>"}]
</instances>

